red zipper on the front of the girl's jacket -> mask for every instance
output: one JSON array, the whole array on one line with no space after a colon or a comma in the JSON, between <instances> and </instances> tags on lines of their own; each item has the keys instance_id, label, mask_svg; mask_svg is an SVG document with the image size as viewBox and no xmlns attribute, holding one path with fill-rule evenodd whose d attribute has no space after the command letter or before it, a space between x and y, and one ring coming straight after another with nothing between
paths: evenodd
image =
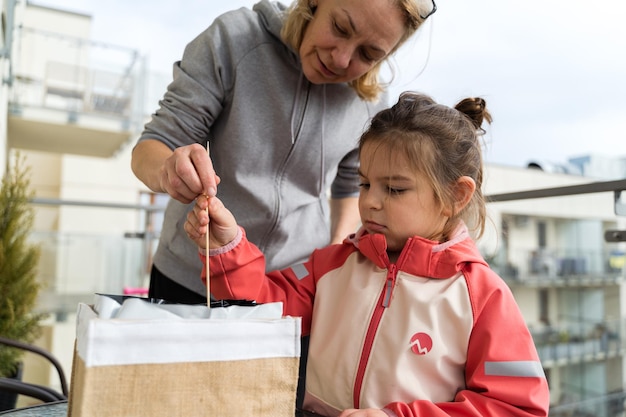
<instances>
[{"instance_id":1,"label":"red zipper on the front of the girl's jacket","mask_svg":"<svg viewBox=\"0 0 626 417\"><path fill-rule=\"evenodd\" d=\"M365 341L363 343L363 350L361 351L361 359L359 360L359 367L356 372L356 379L354 381L354 389L352 390L354 402L354 408L361 408L359 404L359 398L361 398L361 389L363 388L363 378L365 376L365 368L369 362L370 354L372 353L372 345L374 344L374 338L378 331L378 326L383 318L383 313L386 308L391 304L391 294L396 284L396 276L398 274L398 268L395 264L389 265L387 269L387 278L385 279L385 286L378 298L376 308L370 319L370 324L367 328L365 335Z\"/></svg>"}]
</instances>

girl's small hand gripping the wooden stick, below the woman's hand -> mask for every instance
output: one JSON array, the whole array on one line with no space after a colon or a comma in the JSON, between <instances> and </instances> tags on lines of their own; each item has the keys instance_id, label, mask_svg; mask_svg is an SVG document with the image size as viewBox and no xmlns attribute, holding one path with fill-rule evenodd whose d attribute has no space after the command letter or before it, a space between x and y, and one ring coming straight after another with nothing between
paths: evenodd
<instances>
[{"instance_id":1,"label":"girl's small hand gripping the wooden stick, below the woman's hand","mask_svg":"<svg viewBox=\"0 0 626 417\"><path fill-rule=\"evenodd\" d=\"M207 206L209 212L207 215ZM237 221L222 201L217 197L208 198L201 195L196 199L196 204L187 214L184 228L187 236L198 247L206 249L206 231L209 227L209 249L216 249L232 242L237 236Z\"/></svg>"}]
</instances>

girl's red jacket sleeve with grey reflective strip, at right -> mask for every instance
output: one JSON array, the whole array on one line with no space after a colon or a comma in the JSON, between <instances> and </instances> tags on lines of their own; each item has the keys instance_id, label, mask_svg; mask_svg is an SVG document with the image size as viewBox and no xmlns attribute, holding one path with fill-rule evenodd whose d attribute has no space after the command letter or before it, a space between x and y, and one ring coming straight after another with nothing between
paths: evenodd
<instances>
[{"instance_id":1,"label":"girl's red jacket sleeve with grey reflective strip, at right","mask_svg":"<svg viewBox=\"0 0 626 417\"><path fill-rule=\"evenodd\" d=\"M470 269L469 267L468 269ZM482 268L481 268L482 269ZM468 270L466 276L472 275ZM392 416L547 416L548 383L532 336L504 281L488 270L468 280L474 328L465 389L453 402L391 403Z\"/></svg>"}]
</instances>

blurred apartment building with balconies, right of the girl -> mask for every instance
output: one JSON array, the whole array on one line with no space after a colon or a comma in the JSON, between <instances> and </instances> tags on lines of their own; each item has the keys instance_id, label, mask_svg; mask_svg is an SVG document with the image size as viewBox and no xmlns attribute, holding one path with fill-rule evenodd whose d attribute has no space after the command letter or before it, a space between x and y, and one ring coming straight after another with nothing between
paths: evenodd
<instances>
[{"instance_id":1,"label":"blurred apartment building with balconies, right of the girl","mask_svg":"<svg viewBox=\"0 0 626 417\"><path fill-rule=\"evenodd\" d=\"M496 200L503 193L598 182L498 166L489 166L487 175L487 194ZM615 205L612 191L488 205L496 232L482 252L509 284L533 332L552 404L563 410L554 415L622 415L624 243L605 239L626 226Z\"/></svg>"}]
</instances>

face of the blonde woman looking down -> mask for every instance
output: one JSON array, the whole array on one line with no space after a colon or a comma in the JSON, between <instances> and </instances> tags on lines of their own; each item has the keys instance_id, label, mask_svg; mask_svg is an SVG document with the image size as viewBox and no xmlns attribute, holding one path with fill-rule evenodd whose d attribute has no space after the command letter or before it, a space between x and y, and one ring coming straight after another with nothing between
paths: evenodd
<instances>
[{"instance_id":1,"label":"face of the blonde woman looking down","mask_svg":"<svg viewBox=\"0 0 626 417\"><path fill-rule=\"evenodd\" d=\"M392 0L317 0L300 46L302 70L313 84L356 80L382 61L404 34Z\"/></svg>"}]
</instances>

